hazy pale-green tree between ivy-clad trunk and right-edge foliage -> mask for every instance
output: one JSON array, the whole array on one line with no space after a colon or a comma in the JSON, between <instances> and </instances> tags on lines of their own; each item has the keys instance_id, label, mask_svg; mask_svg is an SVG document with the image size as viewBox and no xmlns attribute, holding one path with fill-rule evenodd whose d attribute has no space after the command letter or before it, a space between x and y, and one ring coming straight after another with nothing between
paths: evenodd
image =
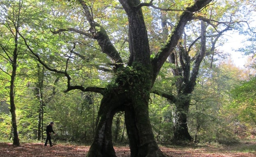
<instances>
[{"instance_id":1,"label":"hazy pale-green tree between ivy-clad trunk and right-edge foliage","mask_svg":"<svg viewBox=\"0 0 256 157\"><path fill-rule=\"evenodd\" d=\"M203 66L208 67L210 62ZM248 77L247 71L231 62L213 64L201 69L197 86L192 94L189 126L196 142L215 141L222 144L238 142L234 138L232 118L226 105L231 102L230 89ZM209 114L210 113L210 114ZM206 134L207 133L207 134ZM207 136L206 136L207 135Z\"/></svg>"}]
</instances>

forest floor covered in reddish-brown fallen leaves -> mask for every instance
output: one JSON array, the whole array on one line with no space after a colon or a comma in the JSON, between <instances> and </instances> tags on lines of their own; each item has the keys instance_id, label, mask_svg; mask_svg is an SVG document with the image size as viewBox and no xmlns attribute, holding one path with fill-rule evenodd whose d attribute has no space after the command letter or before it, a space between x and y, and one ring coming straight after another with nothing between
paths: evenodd
<instances>
[{"instance_id":1,"label":"forest floor covered in reddish-brown fallen leaves","mask_svg":"<svg viewBox=\"0 0 256 157\"><path fill-rule=\"evenodd\" d=\"M114 147L117 157L129 157L128 146ZM188 145L160 146L167 157L256 157L256 142L241 142L233 146ZM0 143L0 157L85 157L89 146L56 144L53 147L42 143Z\"/></svg>"}]
</instances>

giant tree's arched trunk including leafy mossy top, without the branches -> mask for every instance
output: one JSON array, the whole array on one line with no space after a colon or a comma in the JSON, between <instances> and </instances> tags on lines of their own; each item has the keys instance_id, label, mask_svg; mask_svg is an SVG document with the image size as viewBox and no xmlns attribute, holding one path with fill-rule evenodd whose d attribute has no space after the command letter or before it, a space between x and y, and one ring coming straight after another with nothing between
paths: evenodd
<instances>
[{"instance_id":1,"label":"giant tree's arched trunk including leafy mossy top, without the branches","mask_svg":"<svg viewBox=\"0 0 256 157\"><path fill-rule=\"evenodd\" d=\"M148 103L151 73L148 67L135 64L120 69L110 83L98 112L99 124L87 157L115 157L112 145L112 120L118 111L125 112L131 157L164 157L155 142L149 120Z\"/></svg>"}]
</instances>

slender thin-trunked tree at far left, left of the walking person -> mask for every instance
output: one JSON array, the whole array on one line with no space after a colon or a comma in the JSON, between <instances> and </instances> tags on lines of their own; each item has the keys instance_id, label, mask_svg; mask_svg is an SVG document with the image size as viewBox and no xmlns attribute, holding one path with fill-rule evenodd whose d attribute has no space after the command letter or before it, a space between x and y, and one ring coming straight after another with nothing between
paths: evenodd
<instances>
[{"instance_id":1,"label":"slender thin-trunked tree at far left, left of the walking person","mask_svg":"<svg viewBox=\"0 0 256 157\"><path fill-rule=\"evenodd\" d=\"M25 55L25 47L20 44L18 30L23 24L21 17L21 8L23 7L22 1L16 3L4 3L1 2L1 31L2 34L6 34L5 38L1 38L1 57L5 64L9 64L7 67L1 67L3 73L9 78L7 82L9 84L9 103L11 112L11 124L13 130L13 144L16 146L20 145L16 124L16 106L15 106L15 80L16 75L19 71L19 61Z\"/></svg>"}]
</instances>

